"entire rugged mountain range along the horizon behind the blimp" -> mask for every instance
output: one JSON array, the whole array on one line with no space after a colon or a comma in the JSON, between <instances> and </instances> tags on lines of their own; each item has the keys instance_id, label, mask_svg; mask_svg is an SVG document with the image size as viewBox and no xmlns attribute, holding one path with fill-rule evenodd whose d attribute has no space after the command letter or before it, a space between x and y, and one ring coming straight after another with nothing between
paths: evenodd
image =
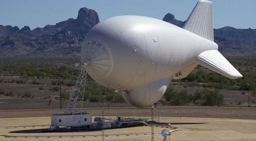
<instances>
[{"instance_id":1,"label":"entire rugged mountain range along the horizon behind the blimp","mask_svg":"<svg viewBox=\"0 0 256 141\"><path fill-rule=\"evenodd\" d=\"M179 27L184 24L170 13L163 20ZM67 19L43 28L31 30L28 26L19 29L17 26L0 25L0 57L79 56L83 39L97 23L97 12L82 7L77 19ZM256 53L256 29L214 29L214 40L225 55Z\"/></svg>"}]
</instances>

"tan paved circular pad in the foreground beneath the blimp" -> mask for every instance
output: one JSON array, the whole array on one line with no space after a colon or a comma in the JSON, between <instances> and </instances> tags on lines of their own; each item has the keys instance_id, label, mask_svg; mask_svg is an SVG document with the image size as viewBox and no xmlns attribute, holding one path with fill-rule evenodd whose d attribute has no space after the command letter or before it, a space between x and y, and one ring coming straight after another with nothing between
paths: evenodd
<instances>
[{"instance_id":1,"label":"tan paved circular pad in the foreground beneath the blimp","mask_svg":"<svg viewBox=\"0 0 256 141\"><path fill-rule=\"evenodd\" d=\"M256 140L256 120L251 119L162 117L160 122L171 122L172 126L178 127L179 130L172 133L171 141ZM0 128L0 141L99 141L102 139L101 131L71 133L37 132L36 129L47 128L49 123L50 117L0 119L0 126L2 126ZM162 129L162 127L155 127L154 131L161 131ZM150 131L149 126L105 130L105 135L107 135L105 136L105 141L150 141L151 134L144 134L144 132ZM3 135L12 137L6 138ZM160 134L155 134L154 136L155 141L162 140Z\"/></svg>"}]
</instances>

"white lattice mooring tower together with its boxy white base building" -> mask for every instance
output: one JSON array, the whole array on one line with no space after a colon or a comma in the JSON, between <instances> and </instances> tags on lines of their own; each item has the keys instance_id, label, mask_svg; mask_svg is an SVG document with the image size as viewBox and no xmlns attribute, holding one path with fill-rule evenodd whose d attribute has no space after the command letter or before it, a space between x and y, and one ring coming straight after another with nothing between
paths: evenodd
<instances>
[{"instance_id":1,"label":"white lattice mooring tower together with its boxy white base building","mask_svg":"<svg viewBox=\"0 0 256 141\"><path fill-rule=\"evenodd\" d=\"M90 114L82 111L86 90L86 63L80 64L79 66L77 82L71 88L67 107L64 111L58 112L58 114L52 114L50 130L57 129L59 126L74 127L89 125L92 122Z\"/></svg>"}]
</instances>

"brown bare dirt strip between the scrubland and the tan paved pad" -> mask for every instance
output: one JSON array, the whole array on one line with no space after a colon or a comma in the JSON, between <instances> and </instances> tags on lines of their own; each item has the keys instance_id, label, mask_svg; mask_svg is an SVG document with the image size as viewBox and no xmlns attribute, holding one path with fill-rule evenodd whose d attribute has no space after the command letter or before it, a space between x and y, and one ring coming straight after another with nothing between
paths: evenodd
<instances>
[{"instance_id":1,"label":"brown bare dirt strip between the scrubland and the tan paved pad","mask_svg":"<svg viewBox=\"0 0 256 141\"><path fill-rule=\"evenodd\" d=\"M137 107L105 107L84 108L84 111L92 116L101 116L104 110L105 116L137 116L150 117L151 109ZM0 118L16 117L48 117L57 113L60 109L27 109L27 110L0 110ZM154 116L160 117L215 117L256 119L256 107L203 107L203 106L169 106L156 107Z\"/></svg>"}]
</instances>

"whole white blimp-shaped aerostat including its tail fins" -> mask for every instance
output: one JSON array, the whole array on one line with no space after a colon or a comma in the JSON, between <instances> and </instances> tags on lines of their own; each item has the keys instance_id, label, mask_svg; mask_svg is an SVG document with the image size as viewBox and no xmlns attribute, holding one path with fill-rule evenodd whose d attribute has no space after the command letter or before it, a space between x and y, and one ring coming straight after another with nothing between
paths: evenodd
<instances>
[{"instance_id":1,"label":"whole white blimp-shaped aerostat including its tail fins","mask_svg":"<svg viewBox=\"0 0 256 141\"><path fill-rule=\"evenodd\" d=\"M159 19L117 16L94 26L82 45L82 62L98 83L126 91L136 107L150 106L171 79L201 65L231 79L242 75L214 43L212 2L200 0L183 28Z\"/></svg>"}]
</instances>

